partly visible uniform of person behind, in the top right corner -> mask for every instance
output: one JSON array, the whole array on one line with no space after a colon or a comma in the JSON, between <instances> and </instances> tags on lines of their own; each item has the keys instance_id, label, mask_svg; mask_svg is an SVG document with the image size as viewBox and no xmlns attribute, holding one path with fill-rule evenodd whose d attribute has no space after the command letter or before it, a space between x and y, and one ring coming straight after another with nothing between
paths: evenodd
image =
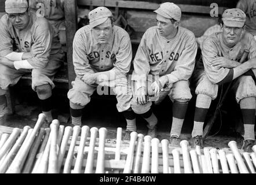
<instances>
[{"instance_id":1,"label":"partly visible uniform of person behind, in the top right corner","mask_svg":"<svg viewBox=\"0 0 256 185\"><path fill-rule=\"evenodd\" d=\"M256 0L240 0L236 8L246 13L246 30L256 35Z\"/></svg>"}]
</instances>

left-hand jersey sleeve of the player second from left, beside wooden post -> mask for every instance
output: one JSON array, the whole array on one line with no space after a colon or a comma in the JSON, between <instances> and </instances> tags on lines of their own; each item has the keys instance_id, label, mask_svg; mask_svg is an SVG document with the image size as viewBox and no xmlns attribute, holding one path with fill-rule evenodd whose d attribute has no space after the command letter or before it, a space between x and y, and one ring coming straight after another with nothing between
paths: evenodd
<instances>
[{"instance_id":1,"label":"left-hand jersey sleeve of the player second from left, beside wooden post","mask_svg":"<svg viewBox=\"0 0 256 185\"><path fill-rule=\"evenodd\" d=\"M76 32L73 41L73 64L77 77L82 77L86 73L94 73L87 58L85 44L86 40L79 32Z\"/></svg>"}]
</instances>

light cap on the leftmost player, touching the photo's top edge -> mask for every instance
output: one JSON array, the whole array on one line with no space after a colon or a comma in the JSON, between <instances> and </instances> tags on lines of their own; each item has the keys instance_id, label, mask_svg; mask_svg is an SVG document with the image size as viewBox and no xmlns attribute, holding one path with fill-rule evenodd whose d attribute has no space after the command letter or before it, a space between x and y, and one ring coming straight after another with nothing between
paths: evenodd
<instances>
[{"instance_id":1,"label":"light cap on the leftmost player, touching the photo's top edge","mask_svg":"<svg viewBox=\"0 0 256 185\"><path fill-rule=\"evenodd\" d=\"M28 9L27 0L6 0L6 13L24 13Z\"/></svg>"}]
</instances>

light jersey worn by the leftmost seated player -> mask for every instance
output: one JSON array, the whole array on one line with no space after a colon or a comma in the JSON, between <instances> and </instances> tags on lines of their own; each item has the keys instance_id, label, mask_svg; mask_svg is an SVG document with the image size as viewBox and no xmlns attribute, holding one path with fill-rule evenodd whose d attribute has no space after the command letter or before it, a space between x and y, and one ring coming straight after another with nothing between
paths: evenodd
<instances>
[{"instance_id":1,"label":"light jersey worn by the leftmost seated player","mask_svg":"<svg viewBox=\"0 0 256 185\"><path fill-rule=\"evenodd\" d=\"M0 20L0 56L5 57L13 51L30 52L31 46L36 42L42 42L45 51L34 58L28 58L28 62L34 68L45 68L49 57L63 53L61 44L56 33L49 22L44 17L37 17L35 13L30 12L30 20L27 28L18 30L10 23L8 14L1 17Z\"/></svg>"}]
</instances>

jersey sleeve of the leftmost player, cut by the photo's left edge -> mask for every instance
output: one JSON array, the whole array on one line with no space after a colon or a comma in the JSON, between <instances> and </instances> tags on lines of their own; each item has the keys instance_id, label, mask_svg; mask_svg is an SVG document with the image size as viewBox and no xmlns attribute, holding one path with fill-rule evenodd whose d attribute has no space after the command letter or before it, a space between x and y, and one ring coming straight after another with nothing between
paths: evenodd
<instances>
[{"instance_id":1,"label":"jersey sleeve of the leftmost player, cut by the photo's left edge","mask_svg":"<svg viewBox=\"0 0 256 185\"><path fill-rule=\"evenodd\" d=\"M8 28L0 20L0 56L5 57L13 52L13 39L9 34Z\"/></svg>"}]
</instances>

